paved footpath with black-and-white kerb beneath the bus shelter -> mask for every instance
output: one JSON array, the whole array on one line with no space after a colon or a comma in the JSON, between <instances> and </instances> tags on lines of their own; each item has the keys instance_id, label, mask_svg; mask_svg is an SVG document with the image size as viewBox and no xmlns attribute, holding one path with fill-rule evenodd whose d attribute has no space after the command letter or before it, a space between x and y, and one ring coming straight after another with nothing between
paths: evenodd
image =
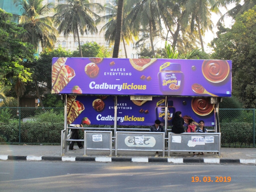
<instances>
[{"instance_id":1,"label":"paved footpath with black-and-white kerb beneath the bus shelter","mask_svg":"<svg viewBox=\"0 0 256 192\"><path fill-rule=\"evenodd\" d=\"M98 162L166 162L166 163L215 163L215 164L256 164L256 148L221 148L221 156L216 153L205 153L193 157L193 153L170 152L165 157L159 152L89 151L84 156L84 149L61 153L60 145L0 145L0 160L27 161L98 161Z\"/></svg>"}]
</instances>

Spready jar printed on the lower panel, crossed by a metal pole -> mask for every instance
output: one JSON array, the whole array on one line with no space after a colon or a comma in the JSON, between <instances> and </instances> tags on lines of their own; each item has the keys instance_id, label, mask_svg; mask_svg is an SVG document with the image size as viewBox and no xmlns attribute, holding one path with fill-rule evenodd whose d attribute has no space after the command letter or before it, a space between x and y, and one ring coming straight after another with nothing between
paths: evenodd
<instances>
[{"instance_id":1,"label":"Spready jar printed on the lower panel, crossed by a metal pole","mask_svg":"<svg viewBox=\"0 0 256 192\"><path fill-rule=\"evenodd\" d=\"M175 114L175 107L173 106L173 101L168 100L167 106L167 125L172 125L172 118ZM161 123L165 123L165 99L159 100L156 104L156 119L160 120Z\"/></svg>"}]
</instances>

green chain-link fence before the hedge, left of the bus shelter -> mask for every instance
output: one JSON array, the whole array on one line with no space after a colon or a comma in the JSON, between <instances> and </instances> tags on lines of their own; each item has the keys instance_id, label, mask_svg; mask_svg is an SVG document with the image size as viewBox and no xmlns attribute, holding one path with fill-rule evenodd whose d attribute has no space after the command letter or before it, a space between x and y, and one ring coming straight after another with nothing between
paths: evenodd
<instances>
[{"instance_id":1,"label":"green chain-link fence before the hedge, left of the bus shelter","mask_svg":"<svg viewBox=\"0 0 256 192\"><path fill-rule=\"evenodd\" d=\"M64 108L0 108L0 143L60 144Z\"/></svg>"}]
</instances>

